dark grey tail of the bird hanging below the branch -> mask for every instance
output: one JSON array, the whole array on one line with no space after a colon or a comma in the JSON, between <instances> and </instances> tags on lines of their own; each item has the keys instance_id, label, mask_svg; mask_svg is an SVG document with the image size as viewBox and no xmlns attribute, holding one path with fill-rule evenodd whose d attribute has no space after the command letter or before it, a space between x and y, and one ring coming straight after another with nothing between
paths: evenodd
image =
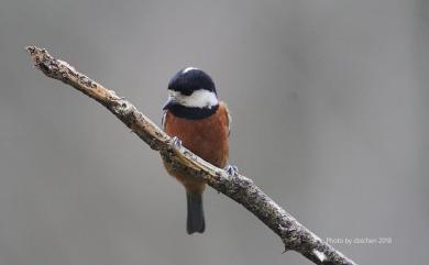
<instances>
[{"instance_id":1,"label":"dark grey tail of the bird hanging below the branch","mask_svg":"<svg viewBox=\"0 0 429 265\"><path fill-rule=\"evenodd\" d=\"M202 233L206 229L205 213L202 211L202 195L186 192L186 199L188 201L186 230L188 234L194 232Z\"/></svg>"}]
</instances>

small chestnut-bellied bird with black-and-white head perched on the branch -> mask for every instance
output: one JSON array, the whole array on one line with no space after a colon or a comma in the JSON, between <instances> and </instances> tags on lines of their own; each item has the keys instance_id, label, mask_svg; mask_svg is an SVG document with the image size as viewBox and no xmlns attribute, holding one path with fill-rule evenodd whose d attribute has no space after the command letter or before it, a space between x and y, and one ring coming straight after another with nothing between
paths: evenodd
<instances>
[{"instance_id":1,"label":"small chestnut-bellied bird with black-and-white head perched on the branch","mask_svg":"<svg viewBox=\"0 0 429 265\"><path fill-rule=\"evenodd\" d=\"M237 174L237 167L227 166L231 118L227 104L218 100L215 82L205 71L187 67L176 73L168 84L168 100L164 106L162 125L185 146L212 165ZM174 169L164 161L168 174L186 189L188 234L206 229L202 192L206 184L186 173Z\"/></svg>"}]
</instances>

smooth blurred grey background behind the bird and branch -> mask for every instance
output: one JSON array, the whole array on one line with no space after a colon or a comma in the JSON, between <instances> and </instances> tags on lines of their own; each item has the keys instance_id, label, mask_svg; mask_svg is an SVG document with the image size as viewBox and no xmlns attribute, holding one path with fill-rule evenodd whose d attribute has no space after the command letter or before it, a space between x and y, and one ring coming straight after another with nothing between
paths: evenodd
<instances>
[{"instance_id":1,"label":"smooth blurred grey background behind the bird and branch","mask_svg":"<svg viewBox=\"0 0 429 265\"><path fill-rule=\"evenodd\" d=\"M311 264L211 188L207 230L158 154L31 67L40 45L160 123L168 79L205 69L231 162L360 264L429 260L429 2L0 4L0 265Z\"/></svg>"}]
</instances>

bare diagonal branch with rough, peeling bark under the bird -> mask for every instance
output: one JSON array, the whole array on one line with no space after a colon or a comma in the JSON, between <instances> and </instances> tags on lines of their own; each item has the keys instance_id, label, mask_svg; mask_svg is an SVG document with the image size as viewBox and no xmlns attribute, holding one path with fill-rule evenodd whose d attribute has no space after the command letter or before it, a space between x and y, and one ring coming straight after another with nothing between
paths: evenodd
<instances>
[{"instance_id":1,"label":"bare diagonal branch with rough, peeling bark under the bird","mask_svg":"<svg viewBox=\"0 0 429 265\"><path fill-rule=\"evenodd\" d=\"M172 139L132 103L78 73L66 62L52 57L46 49L29 46L26 51L34 65L46 76L70 85L100 102L174 167L204 179L216 190L245 207L282 239L285 252L297 251L315 264L355 264L300 224L250 178L242 175L231 177L185 147L174 145Z\"/></svg>"}]
</instances>

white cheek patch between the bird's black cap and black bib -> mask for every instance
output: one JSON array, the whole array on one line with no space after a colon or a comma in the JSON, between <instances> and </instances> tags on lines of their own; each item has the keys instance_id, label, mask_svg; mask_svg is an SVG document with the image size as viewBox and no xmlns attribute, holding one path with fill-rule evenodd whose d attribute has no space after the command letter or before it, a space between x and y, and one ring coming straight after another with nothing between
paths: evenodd
<instances>
[{"instance_id":1,"label":"white cheek patch between the bird's black cap and black bib","mask_svg":"<svg viewBox=\"0 0 429 265\"><path fill-rule=\"evenodd\" d=\"M191 95L186 96L178 91L168 90L169 98L174 101L178 102L182 106L190 107L190 108L209 108L217 106L218 97L215 92L206 90L206 89L198 89L195 90Z\"/></svg>"}]
</instances>

